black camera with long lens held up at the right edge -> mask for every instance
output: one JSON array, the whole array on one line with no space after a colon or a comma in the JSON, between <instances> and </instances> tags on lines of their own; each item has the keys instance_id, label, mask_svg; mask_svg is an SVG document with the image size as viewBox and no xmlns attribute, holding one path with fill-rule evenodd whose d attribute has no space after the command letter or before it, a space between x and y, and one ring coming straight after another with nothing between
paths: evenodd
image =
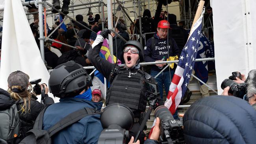
<instances>
[{"instance_id":1,"label":"black camera with long lens held up at the right edge","mask_svg":"<svg viewBox=\"0 0 256 144\"><path fill-rule=\"evenodd\" d=\"M231 79L224 79L224 81L221 83L221 89L224 89L226 87L230 87L228 93L238 98L243 98L243 96L247 93L246 83L236 83Z\"/></svg>"}]
</instances>

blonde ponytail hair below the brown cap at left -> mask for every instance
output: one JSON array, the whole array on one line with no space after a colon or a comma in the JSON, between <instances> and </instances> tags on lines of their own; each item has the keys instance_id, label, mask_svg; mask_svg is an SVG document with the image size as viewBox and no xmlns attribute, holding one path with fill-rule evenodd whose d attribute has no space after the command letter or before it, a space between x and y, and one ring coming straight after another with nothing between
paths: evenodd
<instances>
[{"instance_id":1,"label":"blonde ponytail hair below the brown cap at left","mask_svg":"<svg viewBox=\"0 0 256 144\"><path fill-rule=\"evenodd\" d=\"M14 85L11 87L11 89L17 88L19 90L22 90L22 88L19 85ZM29 86L26 88L26 90L22 91L22 92L13 92L10 88L7 90L7 92L9 92L11 98L13 100L23 100L23 105L20 104L20 111L21 114L25 114L25 113L30 113L30 101L32 98L32 94L30 92L32 92L32 85L29 84ZM27 105L28 103L28 105Z\"/></svg>"}]
</instances>

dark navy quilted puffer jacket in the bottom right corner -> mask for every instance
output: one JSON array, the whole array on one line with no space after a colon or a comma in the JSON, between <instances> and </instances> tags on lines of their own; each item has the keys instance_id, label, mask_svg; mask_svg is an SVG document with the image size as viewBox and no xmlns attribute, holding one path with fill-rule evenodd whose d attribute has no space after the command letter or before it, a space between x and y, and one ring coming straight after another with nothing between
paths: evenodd
<instances>
[{"instance_id":1,"label":"dark navy quilted puffer jacket in the bottom right corner","mask_svg":"<svg viewBox=\"0 0 256 144\"><path fill-rule=\"evenodd\" d=\"M234 96L194 102L183 118L186 144L255 144L256 111Z\"/></svg>"}]
</instances>

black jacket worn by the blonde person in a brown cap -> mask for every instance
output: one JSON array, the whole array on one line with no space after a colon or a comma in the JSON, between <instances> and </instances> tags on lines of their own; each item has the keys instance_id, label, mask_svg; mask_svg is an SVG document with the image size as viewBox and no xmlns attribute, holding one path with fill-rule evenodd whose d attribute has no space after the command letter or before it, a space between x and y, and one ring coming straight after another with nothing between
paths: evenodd
<instances>
[{"instance_id":1,"label":"black jacket worn by the blonde person in a brown cap","mask_svg":"<svg viewBox=\"0 0 256 144\"><path fill-rule=\"evenodd\" d=\"M0 88L0 110L9 109L14 103L15 100L11 99L10 94L6 90ZM22 114L20 111L22 105L23 103L17 104L17 108L21 120L20 127L22 129L22 133L26 133L33 128L33 124L37 118L37 115L42 111L45 105L43 103L37 102L32 98L30 101L30 111L25 114Z\"/></svg>"}]
</instances>

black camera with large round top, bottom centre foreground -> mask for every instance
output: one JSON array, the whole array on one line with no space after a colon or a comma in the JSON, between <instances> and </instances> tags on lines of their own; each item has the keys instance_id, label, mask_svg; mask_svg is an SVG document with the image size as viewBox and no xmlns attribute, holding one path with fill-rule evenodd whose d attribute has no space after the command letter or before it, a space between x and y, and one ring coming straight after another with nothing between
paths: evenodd
<instances>
[{"instance_id":1,"label":"black camera with large round top, bottom centre foreground","mask_svg":"<svg viewBox=\"0 0 256 144\"><path fill-rule=\"evenodd\" d=\"M134 114L124 105L111 104L100 114L100 122L104 129L100 133L98 144L126 144L134 123Z\"/></svg>"}]
</instances>

